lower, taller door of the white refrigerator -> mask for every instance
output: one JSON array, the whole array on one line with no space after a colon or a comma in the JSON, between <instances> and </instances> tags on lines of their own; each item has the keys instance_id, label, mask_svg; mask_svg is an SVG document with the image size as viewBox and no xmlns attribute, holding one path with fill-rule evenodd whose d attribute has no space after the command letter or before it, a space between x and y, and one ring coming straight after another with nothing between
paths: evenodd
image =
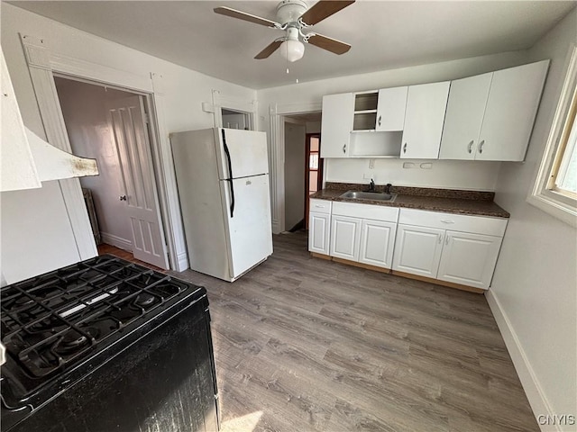
<instances>
[{"instance_id":1,"label":"lower, taller door of the white refrigerator","mask_svg":"<svg viewBox=\"0 0 577 432\"><path fill-rule=\"evenodd\" d=\"M269 175L220 183L229 238L229 266L234 280L272 254Z\"/></svg>"}]
</instances>

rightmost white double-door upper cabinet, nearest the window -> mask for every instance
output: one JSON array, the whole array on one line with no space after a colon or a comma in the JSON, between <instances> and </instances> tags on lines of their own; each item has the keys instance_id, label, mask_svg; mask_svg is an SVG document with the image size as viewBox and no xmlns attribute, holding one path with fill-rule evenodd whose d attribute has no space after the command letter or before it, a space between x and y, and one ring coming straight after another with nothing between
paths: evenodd
<instances>
[{"instance_id":1,"label":"rightmost white double-door upper cabinet, nearest the window","mask_svg":"<svg viewBox=\"0 0 577 432\"><path fill-rule=\"evenodd\" d=\"M453 81L442 159L522 161L549 60Z\"/></svg>"}]
</instances>

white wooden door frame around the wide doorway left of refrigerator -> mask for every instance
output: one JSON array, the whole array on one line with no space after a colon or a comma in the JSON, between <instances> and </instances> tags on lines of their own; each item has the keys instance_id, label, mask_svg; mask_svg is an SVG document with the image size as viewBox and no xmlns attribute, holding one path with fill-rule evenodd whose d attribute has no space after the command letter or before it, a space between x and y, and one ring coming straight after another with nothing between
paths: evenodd
<instances>
[{"instance_id":1,"label":"white wooden door frame around the wide doorway left of refrigerator","mask_svg":"<svg viewBox=\"0 0 577 432\"><path fill-rule=\"evenodd\" d=\"M147 99L150 109L152 165L156 174L160 220L167 241L169 266L178 272L186 270L188 255L166 128L163 77L154 72L147 76L135 75L86 60L70 58L52 52L48 48L47 40L23 34L20 37L46 138L56 148L71 151L54 84L54 73L100 85L117 86L121 90L142 94ZM96 242L78 178L59 180L59 184L80 259L96 257Z\"/></svg>"}]
</instances>

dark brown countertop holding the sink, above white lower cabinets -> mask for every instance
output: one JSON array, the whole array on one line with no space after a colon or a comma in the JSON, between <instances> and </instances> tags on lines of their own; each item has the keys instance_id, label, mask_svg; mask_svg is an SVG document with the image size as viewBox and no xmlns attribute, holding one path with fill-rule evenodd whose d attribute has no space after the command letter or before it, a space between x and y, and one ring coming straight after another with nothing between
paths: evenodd
<instances>
[{"instance_id":1,"label":"dark brown countertop holding the sink, above white lower cabinets","mask_svg":"<svg viewBox=\"0 0 577 432\"><path fill-rule=\"evenodd\" d=\"M310 198L337 202L358 202L388 207L404 207L418 210L444 211L457 214L472 214L494 218L509 217L508 211L504 211L492 201L493 193L392 187L390 192L397 194L393 202L341 198L340 195L352 190L366 190L366 184L326 184L325 189L313 193L310 195ZM377 190L381 191L382 186L377 186ZM488 198L490 198L490 200Z\"/></svg>"}]
</instances>

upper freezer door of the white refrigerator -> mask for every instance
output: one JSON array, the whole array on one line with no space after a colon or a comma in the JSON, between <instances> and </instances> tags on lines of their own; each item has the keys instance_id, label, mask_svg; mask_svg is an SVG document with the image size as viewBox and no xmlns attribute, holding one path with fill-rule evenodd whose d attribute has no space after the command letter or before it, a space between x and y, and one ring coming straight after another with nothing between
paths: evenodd
<instances>
[{"instance_id":1,"label":"upper freezer door of the white refrigerator","mask_svg":"<svg viewBox=\"0 0 577 432\"><path fill-rule=\"evenodd\" d=\"M215 144L221 180L269 173L265 132L217 128Z\"/></svg>"}]
</instances>

